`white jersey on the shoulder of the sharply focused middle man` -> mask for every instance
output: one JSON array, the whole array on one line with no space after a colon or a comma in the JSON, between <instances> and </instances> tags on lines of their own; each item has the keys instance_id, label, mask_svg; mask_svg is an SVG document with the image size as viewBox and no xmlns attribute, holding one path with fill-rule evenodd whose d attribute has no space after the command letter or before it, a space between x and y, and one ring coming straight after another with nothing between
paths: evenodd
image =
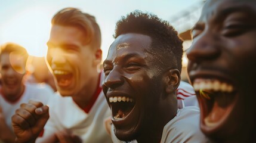
<instances>
[{"instance_id":1,"label":"white jersey on the shoulder of the sharply focused middle man","mask_svg":"<svg viewBox=\"0 0 256 143\"><path fill-rule=\"evenodd\" d=\"M200 111L190 106L178 109L177 115L164 127L161 143L209 142L199 128Z\"/></svg>"}]
</instances>

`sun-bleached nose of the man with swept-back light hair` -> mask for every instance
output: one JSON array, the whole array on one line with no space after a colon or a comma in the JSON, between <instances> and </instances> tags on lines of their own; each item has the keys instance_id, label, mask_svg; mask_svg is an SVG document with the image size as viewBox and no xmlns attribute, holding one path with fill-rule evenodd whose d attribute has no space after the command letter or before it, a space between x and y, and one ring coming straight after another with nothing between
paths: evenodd
<instances>
[{"instance_id":1,"label":"sun-bleached nose of the man with swept-back light hair","mask_svg":"<svg viewBox=\"0 0 256 143\"><path fill-rule=\"evenodd\" d=\"M50 64L61 66L66 63L64 53L60 48L51 48L47 54L47 60Z\"/></svg>"}]
</instances>

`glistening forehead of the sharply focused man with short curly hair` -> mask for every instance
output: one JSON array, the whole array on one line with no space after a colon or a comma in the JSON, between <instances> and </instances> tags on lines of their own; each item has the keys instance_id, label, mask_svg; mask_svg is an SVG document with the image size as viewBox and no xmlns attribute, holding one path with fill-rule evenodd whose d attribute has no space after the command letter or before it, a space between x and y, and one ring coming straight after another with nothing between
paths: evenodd
<instances>
[{"instance_id":1,"label":"glistening forehead of the sharply focused man with short curly hair","mask_svg":"<svg viewBox=\"0 0 256 143\"><path fill-rule=\"evenodd\" d=\"M149 51L152 39L150 36L137 33L127 33L118 36L109 48L107 58L130 53L141 53Z\"/></svg>"}]
</instances>

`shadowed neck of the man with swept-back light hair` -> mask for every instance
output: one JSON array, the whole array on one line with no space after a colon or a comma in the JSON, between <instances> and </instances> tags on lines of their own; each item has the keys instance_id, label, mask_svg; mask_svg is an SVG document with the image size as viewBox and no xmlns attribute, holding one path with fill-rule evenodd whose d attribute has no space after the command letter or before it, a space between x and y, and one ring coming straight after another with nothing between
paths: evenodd
<instances>
[{"instance_id":1,"label":"shadowed neck of the man with swept-back light hair","mask_svg":"<svg viewBox=\"0 0 256 143\"><path fill-rule=\"evenodd\" d=\"M92 96L97 90L98 80L100 80L98 74L100 73L95 74L95 76L93 76L91 80L89 80L88 83L84 85L81 91L79 91L78 94L72 97L80 108L85 108L88 105Z\"/></svg>"}]
</instances>

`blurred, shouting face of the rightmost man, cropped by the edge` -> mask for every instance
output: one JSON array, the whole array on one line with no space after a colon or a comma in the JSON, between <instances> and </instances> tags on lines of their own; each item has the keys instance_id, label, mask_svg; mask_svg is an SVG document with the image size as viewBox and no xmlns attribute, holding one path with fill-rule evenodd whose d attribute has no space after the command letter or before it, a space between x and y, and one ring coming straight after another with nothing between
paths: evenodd
<instances>
[{"instance_id":1,"label":"blurred, shouting face of the rightmost man, cropped by the edge","mask_svg":"<svg viewBox=\"0 0 256 143\"><path fill-rule=\"evenodd\" d=\"M201 129L217 141L255 138L254 17L256 1L207 1L192 30L190 82L201 107Z\"/></svg>"}]
</instances>

